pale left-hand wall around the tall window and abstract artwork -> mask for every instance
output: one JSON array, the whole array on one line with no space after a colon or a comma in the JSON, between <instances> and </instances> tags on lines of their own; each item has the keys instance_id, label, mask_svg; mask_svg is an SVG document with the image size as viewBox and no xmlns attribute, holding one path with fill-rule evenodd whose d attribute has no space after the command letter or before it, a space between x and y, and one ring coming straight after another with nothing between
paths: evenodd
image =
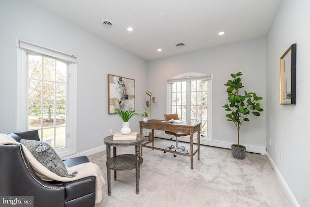
<instances>
[{"instance_id":1,"label":"pale left-hand wall around the tall window and abstract artwork","mask_svg":"<svg viewBox=\"0 0 310 207\"><path fill-rule=\"evenodd\" d=\"M100 22L100 21L99 21ZM0 133L16 131L16 39L78 57L77 152L104 145L122 121L108 115L108 77L136 80L136 109L146 109L146 61L22 0L0 1ZM139 131L137 117L130 120ZM99 138L95 138L99 132Z\"/></svg>"}]
</instances>

